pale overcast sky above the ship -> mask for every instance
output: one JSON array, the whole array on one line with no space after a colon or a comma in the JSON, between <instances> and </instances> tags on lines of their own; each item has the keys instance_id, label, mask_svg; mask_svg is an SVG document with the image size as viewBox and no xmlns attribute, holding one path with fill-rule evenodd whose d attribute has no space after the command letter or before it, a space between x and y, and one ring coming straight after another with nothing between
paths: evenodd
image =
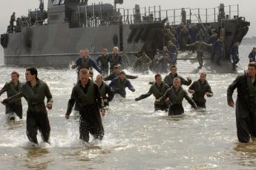
<instances>
[{"instance_id":1,"label":"pale overcast sky above the ship","mask_svg":"<svg viewBox=\"0 0 256 170\"><path fill-rule=\"evenodd\" d=\"M112 3L114 0L105 0L103 2ZM88 1L91 3L98 3L99 1ZM256 36L256 1L255 0L124 0L124 4L117 7L133 8L134 4L140 4L140 7L148 7L154 5L161 5L163 9L178 9L182 7L191 8L210 8L217 7L220 3L225 5L239 4L240 16L246 17L247 21L251 22L249 27L249 33L246 36ZM27 15L29 9L35 9L39 7L39 0L1 0L0 7L0 33L4 33L7 30L7 25L10 21L10 16L13 12L16 12L16 18L18 16ZM45 7L47 7L47 0L45 0Z\"/></svg>"}]
</instances>

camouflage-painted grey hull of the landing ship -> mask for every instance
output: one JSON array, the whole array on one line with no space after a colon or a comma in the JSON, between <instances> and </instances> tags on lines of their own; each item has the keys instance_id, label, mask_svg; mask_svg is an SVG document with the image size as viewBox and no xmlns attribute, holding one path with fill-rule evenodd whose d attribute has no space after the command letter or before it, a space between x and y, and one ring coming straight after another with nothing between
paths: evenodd
<instances>
[{"instance_id":1,"label":"camouflage-painted grey hull of the landing ship","mask_svg":"<svg viewBox=\"0 0 256 170\"><path fill-rule=\"evenodd\" d=\"M221 28L220 23L209 23ZM248 31L248 22L224 21L226 56L234 42L241 42ZM7 34L4 64L7 66L68 67L76 60L79 50L88 48L96 58L102 49L111 52L117 46L128 53L139 52L142 47L150 51L163 47L163 24L113 24L99 27L70 28L68 24L48 24L24 27L21 33ZM156 39L158 38L158 40ZM152 57L152 56L151 56Z\"/></svg>"}]
</instances>

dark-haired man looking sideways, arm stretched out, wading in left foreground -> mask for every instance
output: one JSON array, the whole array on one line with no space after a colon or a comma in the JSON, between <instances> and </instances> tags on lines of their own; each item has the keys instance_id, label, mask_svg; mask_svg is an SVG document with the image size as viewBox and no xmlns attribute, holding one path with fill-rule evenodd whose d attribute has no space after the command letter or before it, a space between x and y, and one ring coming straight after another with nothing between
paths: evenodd
<instances>
[{"instance_id":1,"label":"dark-haired man looking sideways, arm stretched out, wading in left foreground","mask_svg":"<svg viewBox=\"0 0 256 170\"><path fill-rule=\"evenodd\" d=\"M42 134L44 142L49 143L50 123L45 108L45 97L47 98L47 109L52 109L53 98L50 89L44 81L37 78L37 69L30 67L26 69L26 83L17 95L4 99L2 103L9 104L24 97L27 101L27 137L30 142L38 145L37 131Z\"/></svg>"}]
</instances>

